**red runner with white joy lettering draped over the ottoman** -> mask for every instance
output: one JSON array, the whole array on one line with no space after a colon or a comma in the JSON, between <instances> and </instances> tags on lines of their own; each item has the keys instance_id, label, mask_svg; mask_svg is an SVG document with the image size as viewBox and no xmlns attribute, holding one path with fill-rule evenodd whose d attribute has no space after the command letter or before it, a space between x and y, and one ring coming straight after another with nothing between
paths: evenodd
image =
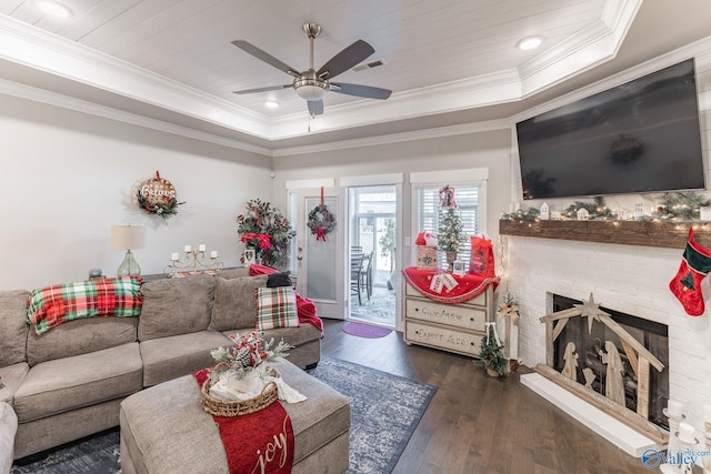
<instances>
[{"instance_id":1,"label":"red runner with white joy lettering draped over the ottoman","mask_svg":"<svg viewBox=\"0 0 711 474\"><path fill-rule=\"evenodd\" d=\"M196 372L198 385L209 370ZM241 416L212 416L220 431L231 474L289 474L293 464L293 428L281 403Z\"/></svg>"}]
</instances>

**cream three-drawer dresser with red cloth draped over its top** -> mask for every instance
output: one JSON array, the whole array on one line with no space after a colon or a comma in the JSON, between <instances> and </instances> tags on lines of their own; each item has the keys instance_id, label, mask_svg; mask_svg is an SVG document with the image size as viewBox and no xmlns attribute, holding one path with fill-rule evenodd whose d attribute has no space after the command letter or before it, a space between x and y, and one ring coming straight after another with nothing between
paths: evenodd
<instances>
[{"instance_id":1,"label":"cream three-drawer dresser with red cloth draped over its top","mask_svg":"<svg viewBox=\"0 0 711 474\"><path fill-rule=\"evenodd\" d=\"M425 282L442 271L405 269L404 342L478 356L485 322L494 319L493 291L499 279L452 275L460 292L431 294ZM461 293L461 294L460 294Z\"/></svg>"}]
</instances>

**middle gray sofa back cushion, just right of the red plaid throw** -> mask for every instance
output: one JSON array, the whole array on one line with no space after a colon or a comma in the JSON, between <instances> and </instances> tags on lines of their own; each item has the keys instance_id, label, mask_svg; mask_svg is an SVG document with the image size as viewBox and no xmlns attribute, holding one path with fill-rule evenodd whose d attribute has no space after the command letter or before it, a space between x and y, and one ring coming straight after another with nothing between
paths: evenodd
<instances>
[{"instance_id":1,"label":"middle gray sofa back cushion, just right of the red plaid throw","mask_svg":"<svg viewBox=\"0 0 711 474\"><path fill-rule=\"evenodd\" d=\"M210 324L214 276L154 280L142 292L139 341L204 331Z\"/></svg>"}]
</instances>

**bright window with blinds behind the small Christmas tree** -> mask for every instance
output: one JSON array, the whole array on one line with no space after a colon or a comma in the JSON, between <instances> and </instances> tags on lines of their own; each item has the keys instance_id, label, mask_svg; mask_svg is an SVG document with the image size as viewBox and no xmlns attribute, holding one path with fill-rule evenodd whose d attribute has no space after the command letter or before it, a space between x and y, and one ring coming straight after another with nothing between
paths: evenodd
<instances>
[{"instance_id":1,"label":"bright window with blinds behind the small Christmas tree","mask_svg":"<svg viewBox=\"0 0 711 474\"><path fill-rule=\"evenodd\" d=\"M443 185L429 185L418 186L414 189L417 199L417 225L419 232L430 231L434 234L438 233L439 226L439 212L440 210L440 195L439 191ZM469 265L469 256L471 253L471 245L469 241L470 235L478 234L479 230L479 186L474 185L457 185L454 188L454 202L457 203L457 211L462 220L462 229L464 243L458 253L458 259L463 260ZM447 266L447 258L444 252L439 252L439 266Z\"/></svg>"}]
</instances>

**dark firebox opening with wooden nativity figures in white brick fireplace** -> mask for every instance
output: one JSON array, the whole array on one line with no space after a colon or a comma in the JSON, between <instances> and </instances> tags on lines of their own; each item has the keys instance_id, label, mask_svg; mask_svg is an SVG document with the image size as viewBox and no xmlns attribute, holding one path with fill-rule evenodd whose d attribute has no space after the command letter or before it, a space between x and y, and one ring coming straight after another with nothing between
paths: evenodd
<instances>
[{"instance_id":1,"label":"dark firebox opening with wooden nativity figures in white brick fireplace","mask_svg":"<svg viewBox=\"0 0 711 474\"><path fill-rule=\"evenodd\" d=\"M581 301L553 295L554 313L581 306ZM567 320L558 336L551 341L552 347L549 347L549 351L552 351L553 369L602 396L617 399L617 403L623 404L631 412L644 414L649 422L669 430L667 417L662 412L669 399L667 326L605 307L600 307L600 311L607 313L617 323L615 329L621 327L623 331L613 331L610 325L598 320L585 321L584 317ZM630 342L633 343L630 336L653 354L664 369L651 370L640 380L640 361L630 347ZM574 354L571 353L573 347ZM610 364L617 363L620 366L611 372ZM618 380L608 381L611 376ZM644 396L640 396L640 384L644 385ZM618 394L608 393L612 390ZM640 403L647 406L638 406Z\"/></svg>"}]
</instances>

